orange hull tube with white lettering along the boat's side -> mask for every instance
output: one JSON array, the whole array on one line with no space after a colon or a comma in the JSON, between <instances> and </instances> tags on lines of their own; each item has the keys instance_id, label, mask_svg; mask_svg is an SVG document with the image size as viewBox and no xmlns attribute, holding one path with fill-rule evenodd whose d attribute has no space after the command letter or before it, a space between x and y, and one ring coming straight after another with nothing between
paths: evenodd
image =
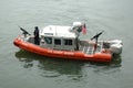
<instances>
[{"instance_id":1,"label":"orange hull tube with white lettering along the boat's side","mask_svg":"<svg viewBox=\"0 0 133 88\"><path fill-rule=\"evenodd\" d=\"M13 44L19 48L29 51L31 53L35 53L43 56L49 57L58 57L58 58L65 58L65 59L79 59L79 61L90 61L90 62L101 62L108 63L111 62L111 54L110 53L95 53L93 55L88 55L82 52L69 52L69 51L55 51L50 48L42 48L38 45L32 43L28 43L22 41L21 38L16 38Z\"/></svg>"}]
</instances>

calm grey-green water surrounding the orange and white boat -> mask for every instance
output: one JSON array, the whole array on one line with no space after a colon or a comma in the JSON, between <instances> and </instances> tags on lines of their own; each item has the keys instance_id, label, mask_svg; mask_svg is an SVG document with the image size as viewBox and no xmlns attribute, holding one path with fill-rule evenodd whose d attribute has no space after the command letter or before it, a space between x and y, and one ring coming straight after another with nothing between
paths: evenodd
<instances>
[{"instance_id":1,"label":"calm grey-green water surrounding the orange and white boat","mask_svg":"<svg viewBox=\"0 0 133 88\"><path fill-rule=\"evenodd\" d=\"M13 46L18 25L30 33L38 25L86 23L90 38L123 41L121 62L95 64L42 57ZM0 88L132 88L132 0L1 0Z\"/></svg>"}]
</instances>

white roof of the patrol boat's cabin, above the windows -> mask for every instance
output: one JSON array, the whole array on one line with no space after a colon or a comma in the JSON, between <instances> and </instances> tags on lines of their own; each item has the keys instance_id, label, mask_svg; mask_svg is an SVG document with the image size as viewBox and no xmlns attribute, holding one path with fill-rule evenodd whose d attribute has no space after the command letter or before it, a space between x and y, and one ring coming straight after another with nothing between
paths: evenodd
<instances>
[{"instance_id":1,"label":"white roof of the patrol boat's cabin, above the windows","mask_svg":"<svg viewBox=\"0 0 133 88\"><path fill-rule=\"evenodd\" d=\"M40 33L41 36L75 38L78 34L72 31L72 26L48 25Z\"/></svg>"}]
</instances>

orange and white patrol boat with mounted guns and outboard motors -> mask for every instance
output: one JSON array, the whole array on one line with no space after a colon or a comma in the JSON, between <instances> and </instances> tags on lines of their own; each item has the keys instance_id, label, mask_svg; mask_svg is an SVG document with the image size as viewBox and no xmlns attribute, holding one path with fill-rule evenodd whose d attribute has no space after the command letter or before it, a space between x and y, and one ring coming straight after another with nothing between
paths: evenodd
<instances>
[{"instance_id":1,"label":"orange and white patrol boat with mounted guns and outboard motors","mask_svg":"<svg viewBox=\"0 0 133 88\"><path fill-rule=\"evenodd\" d=\"M48 57L109 63L114 55L122 53L122 41L98 40L103 31L91 40L80 40L80 33L86 33L85 24L81 22L73 22L71 26L48 25L37 32L38 38L35 33L31 35L22 28L20 30L23 33L13 44L21 50Z\"/></svg>"}]
</instances>

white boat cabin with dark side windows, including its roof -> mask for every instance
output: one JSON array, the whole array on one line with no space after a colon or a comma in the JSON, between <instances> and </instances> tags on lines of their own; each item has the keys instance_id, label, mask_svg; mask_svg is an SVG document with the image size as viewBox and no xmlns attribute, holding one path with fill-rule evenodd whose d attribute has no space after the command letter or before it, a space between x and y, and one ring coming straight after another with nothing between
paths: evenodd
<instances>
[{"instance_id":1,"label":"white boat cabin with dark side windows, including its roof","mask_svg":"<svg viewBox=\"0 0 133 88\"><path fill-rule=\"evenodd\" d=\"M43 47L74 51L78 48L79 33L73 26L48 25L40 32Z\"/></svg>"}]
</instances>

